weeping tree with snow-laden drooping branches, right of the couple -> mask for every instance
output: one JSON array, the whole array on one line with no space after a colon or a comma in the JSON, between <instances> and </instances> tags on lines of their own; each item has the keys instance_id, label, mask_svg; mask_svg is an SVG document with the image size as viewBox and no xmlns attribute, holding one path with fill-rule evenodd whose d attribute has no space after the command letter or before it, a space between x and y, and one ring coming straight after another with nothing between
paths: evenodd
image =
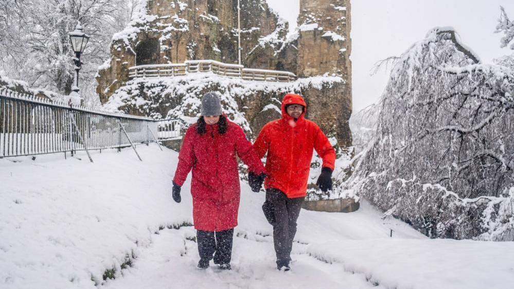
<instances>
[{"instance_id":1,"label":"weeping tree with snow-laden drooping branches, right of the couple","mask_svg":"<svg viewBox=\"0 0 514 289\"><path fill-rule=\"evenodd\" d=\"M431 30L396 61L349 184L430 237L513 241L513 95L511 68Z\"/></svg>"}]
</instances>

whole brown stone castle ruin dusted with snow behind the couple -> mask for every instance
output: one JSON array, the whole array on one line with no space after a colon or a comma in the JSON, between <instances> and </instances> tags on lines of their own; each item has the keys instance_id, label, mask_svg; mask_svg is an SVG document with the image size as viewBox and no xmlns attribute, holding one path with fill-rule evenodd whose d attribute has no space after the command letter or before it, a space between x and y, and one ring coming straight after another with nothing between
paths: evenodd
<instances>
[{"instance_id":1,"label":"whole brown stone castle ruin dusted with snow behind the couple","mask_svg":"<svg viewBox=\"0 0 514 289\"><path fill-rule=\"evenodd\" d=\"M298 80L227 84L209 79L209 85L198 89L179 89L192 85L187 78L149 82L130 77L129 68L190 60L237 64L237 0L147 0L144 5L128 27L114 35L111 58L99 68L97 92L102 103L117 103L126 113L187 122L199 113L190 94L199 98L217 90L229 96L222 98L229 115L236 121L244 118L237 122L255 137L264 123L280 117L283 95L295 92L308 103L307 118L320 124L340 148L351 146L349 0L300 0L298 30L289 38L289 24L264 0L241 0L242 65L289 71Z\"/></svg>"}]
</instances>

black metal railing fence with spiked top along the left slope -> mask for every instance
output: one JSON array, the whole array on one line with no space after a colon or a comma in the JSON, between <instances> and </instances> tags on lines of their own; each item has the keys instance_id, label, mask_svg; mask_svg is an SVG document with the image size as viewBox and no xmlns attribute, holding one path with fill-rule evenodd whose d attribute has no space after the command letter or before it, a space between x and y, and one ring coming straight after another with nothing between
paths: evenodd
<instances>
[{"instance_id":1,"label":"black metal railing fence with spiked top along the left slope","mask_svg":"<svg viewBox=\"0 0 514 289\"><path fill-rule=\"evenodd\" d=\"M125 147L135 150L136 145L179 138L178 120L111 113L0 90L0 158Z\"/></svg>"}]
</instances>

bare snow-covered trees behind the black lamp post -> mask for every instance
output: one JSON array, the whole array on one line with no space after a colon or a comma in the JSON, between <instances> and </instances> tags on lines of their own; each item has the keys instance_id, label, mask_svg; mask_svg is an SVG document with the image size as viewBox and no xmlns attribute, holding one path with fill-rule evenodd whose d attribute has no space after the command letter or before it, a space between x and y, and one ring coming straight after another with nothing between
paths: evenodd
<instances>
[{"instance_id":1,"label":"bare snow-covered trees behind the black lamp post","mask_svg":"<svg viewBox=\"0 0 514 289\"><path fill-rule=\"evenodd\" d=\"M80 21L91 36L81 61L80 87L94 96L94 75L108 58L115 31L138 0L6 0L0 5L0 70L31 86L69 94L75 54L68 32Z\"/></svg>"}]
</instances>

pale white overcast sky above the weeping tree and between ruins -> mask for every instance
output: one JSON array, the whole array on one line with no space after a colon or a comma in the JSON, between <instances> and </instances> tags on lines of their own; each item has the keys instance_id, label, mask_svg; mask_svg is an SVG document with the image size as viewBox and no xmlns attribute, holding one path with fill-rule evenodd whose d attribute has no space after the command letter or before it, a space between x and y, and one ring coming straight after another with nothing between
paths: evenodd
<instances>
[{"instance_id":1,"label":"pale white overcast sky above the weeping tree and between ruins","mask_svg":"<svg viewBox=\"0 0 514 289\"><path fill-rule=\"evenodd\" d=\"M311 0L314 1L314 0ZM296 26L299 0L267 0ZM514 0L355 0L351 1L353 110L376 102L387 83L386 71L370 76L374 64L398 56L436 26L452 26L484 63L514 53L500 48L503 34L493 33L500 5L514 20Z\"/></svg>"}]
</instances>

